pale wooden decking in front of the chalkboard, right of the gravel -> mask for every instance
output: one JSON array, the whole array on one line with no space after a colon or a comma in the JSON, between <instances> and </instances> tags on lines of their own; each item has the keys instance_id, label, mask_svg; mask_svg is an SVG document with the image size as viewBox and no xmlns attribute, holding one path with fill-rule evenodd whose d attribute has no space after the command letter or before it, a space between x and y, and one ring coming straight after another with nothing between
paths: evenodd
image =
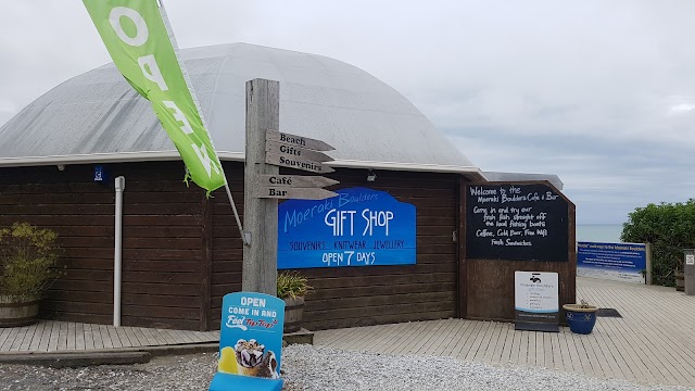
<instances>
[{"instance_id":1,"label":"pale wooden decking in front of the chalkboard, right of the gravel","mask_svg":"<svg viewBox=\"0 0 695 391\"><path fill-rule=\"evenodd\" d=\"M578 278L577 298L616 308L594 332L515 331L513 324L443 319L318 331L315 344L544 367L650 384L695 384L695 297L673 288Z\"/></svg>"}]
</instances>

